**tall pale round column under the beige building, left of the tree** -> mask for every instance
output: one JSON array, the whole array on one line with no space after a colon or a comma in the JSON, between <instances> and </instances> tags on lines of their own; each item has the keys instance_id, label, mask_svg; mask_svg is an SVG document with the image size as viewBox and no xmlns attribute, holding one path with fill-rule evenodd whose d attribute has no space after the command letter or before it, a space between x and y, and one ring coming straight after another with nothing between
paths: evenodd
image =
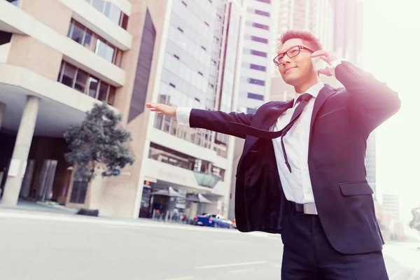
<instances>
[{"instance_id":1,"label":"tall pale round column under the beige building, left of the tree","mask_svg":"<svg viewBox=\"0 0 420 280\"><path fill-rule=\"evenodd\" d=\"M29 149L31 148L32 137L34 136L36 118L38 117L40 99L28 96L22 119L20 120L18 136L13 148L12 160L8 171L8 178L4 186L1 204L15 206L18 204L20 187L25 174Z\"/></svg>"}]
</instances>

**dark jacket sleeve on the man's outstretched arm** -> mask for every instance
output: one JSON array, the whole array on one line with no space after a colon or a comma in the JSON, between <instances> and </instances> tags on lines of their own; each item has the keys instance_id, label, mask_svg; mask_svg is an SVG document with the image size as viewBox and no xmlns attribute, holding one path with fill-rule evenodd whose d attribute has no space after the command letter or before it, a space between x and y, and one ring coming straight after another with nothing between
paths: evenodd
<instances>
[{"instance_id":1,"label":"dark jacket sleeve on the man's outstretched arm","mask_svg":"<svg viewBox=\"0 0 420 280\"><path fill-rule=\"evenodd\" d=\"M245 134L230 130L226 125L231 122L251 125L253 116L253 113L225 113L222 111L192 109L190 113L190 127L204 128L245 139Z\"/></svg>"}]
</instances>

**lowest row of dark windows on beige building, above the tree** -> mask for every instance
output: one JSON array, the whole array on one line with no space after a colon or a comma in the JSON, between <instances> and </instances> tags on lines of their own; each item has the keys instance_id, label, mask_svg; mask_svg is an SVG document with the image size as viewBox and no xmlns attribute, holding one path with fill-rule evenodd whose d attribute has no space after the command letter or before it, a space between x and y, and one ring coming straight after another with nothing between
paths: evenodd
<instances>
[{"instance_id":1,"label":"lowest row of dark windows on beige building, above the tree","mask_svg":"<svg viewBox=\"0 0 420 280\"><path fill-rule=\"evenodd\" d=\"M116 87L99 80L67 62L62 62L57 80L59 83L87 94L94 99L106 101L110 105L114 103Z\"/></svg>"}]
</instances>

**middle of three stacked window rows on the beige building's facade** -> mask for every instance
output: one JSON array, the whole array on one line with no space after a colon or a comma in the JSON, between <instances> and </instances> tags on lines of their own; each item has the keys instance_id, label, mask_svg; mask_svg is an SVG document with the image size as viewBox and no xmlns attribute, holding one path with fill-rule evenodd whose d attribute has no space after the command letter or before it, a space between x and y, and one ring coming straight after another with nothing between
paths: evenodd
<instances>
[{"instance_id":1,"label":"middle of three stacked window rows on the beige building's facade","mask_svg":"<svg viewBox=\"0 0 420 280\"><path fill-rule=\"evenodd\" d=\"M104 38L94 34L90 29L76 22L76 20L71 20L67 36L109 62L117 66L121 65L123 51L113 46Z\"/></svg>"}]
</instances>

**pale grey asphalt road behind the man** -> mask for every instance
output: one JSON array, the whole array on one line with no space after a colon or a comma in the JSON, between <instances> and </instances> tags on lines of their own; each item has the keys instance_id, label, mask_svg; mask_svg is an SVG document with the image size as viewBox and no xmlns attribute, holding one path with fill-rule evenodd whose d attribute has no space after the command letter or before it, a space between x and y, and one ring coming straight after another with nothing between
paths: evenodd
<instances>
[{"instance_id":1,"label":"pale grey asphalt road behind the man","mask_svg":"<svg viewBox=\"0 0 420 280\"><path fill-rule=\"evenodd\" d=\"M151 221L0 210L0 279L280 279L279 237ZM420 251L384 248L391 280L420 280Z\"/></svg>"}]
</instances>

